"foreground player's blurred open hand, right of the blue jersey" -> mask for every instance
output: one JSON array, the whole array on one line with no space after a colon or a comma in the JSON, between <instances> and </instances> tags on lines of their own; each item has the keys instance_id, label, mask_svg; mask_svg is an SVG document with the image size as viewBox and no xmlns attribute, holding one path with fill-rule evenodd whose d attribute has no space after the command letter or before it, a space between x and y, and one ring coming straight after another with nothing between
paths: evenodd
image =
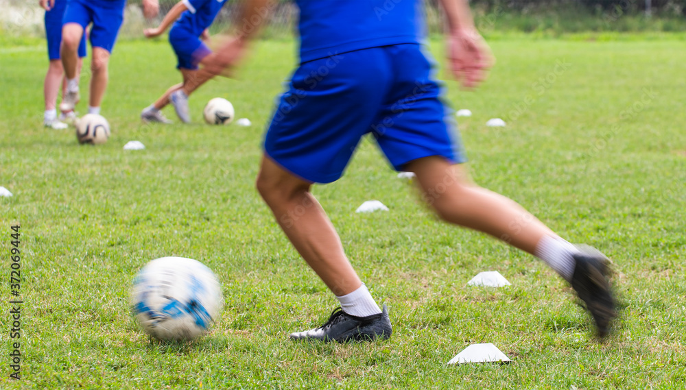
<instances>
[{"instance_id":1,"label":"foreground player's blurred open hand, right of the blue jersey","mask_svg":"<svg viewBox=\"0 0 686 390\"><path fill-rule=\"evenodd\" d=\"M448 60L455 78L464 88L486 79L495 59L484 38L475 29L458 29L448 36Z\"/></svg>"}]
</instances>

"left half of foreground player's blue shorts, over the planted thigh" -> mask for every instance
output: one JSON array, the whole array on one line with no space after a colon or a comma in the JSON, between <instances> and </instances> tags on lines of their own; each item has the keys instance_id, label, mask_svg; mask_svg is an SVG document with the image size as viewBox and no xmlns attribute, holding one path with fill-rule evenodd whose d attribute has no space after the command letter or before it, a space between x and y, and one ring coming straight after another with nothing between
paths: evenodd
<instances>
[{"instance_id":1,"label":"left half of foreground player's blue shorts, over the planted thigh","mask_svg":"<svg viewBox=\"0 0 686 390\"><path fill-rule=\"evenodd\" d=\"M338 180L381 107L385 61L375 48L301 64L274 111L265 153L309 182Z\"/></svg>"}]
</instances>

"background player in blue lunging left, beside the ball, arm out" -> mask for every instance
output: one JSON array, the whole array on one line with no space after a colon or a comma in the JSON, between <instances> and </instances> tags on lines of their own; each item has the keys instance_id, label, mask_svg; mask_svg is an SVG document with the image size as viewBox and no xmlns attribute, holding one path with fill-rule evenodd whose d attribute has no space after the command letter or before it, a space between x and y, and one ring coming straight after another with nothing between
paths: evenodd
<instances>
[{"instance_id":1,"label":"background player in blue lunging left, beside the ball, arm out","mask_svg":"<svg viewBox=\"0 0 686 390\"><path fill-rule=\"evenodd\" d=\"M161 111L170 102L181 121L191 121L188 97L213 77L211 73L198 69L198 64L212 52L202 40L209 39L207 29L224 3L226 0L182 0L167 12L158 27L145 29L145 36L152 38L163 34L174 23L169 30L169 43L178 58L176 69L181 72L183 82L169 87L167 92L145 108L141 112L143 121L171 123Z\"/></svg>"}]
</instances>

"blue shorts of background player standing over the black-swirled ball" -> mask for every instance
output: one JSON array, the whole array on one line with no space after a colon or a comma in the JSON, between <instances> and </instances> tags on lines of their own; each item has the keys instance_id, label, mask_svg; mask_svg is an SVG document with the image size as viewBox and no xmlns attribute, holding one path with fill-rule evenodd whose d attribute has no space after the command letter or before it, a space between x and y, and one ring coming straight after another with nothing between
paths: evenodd
<instances>
[{"instance_id":1,"label":"blue shorts of background player standing over the black-swirled ball","mask_svg":"<svg viewBox=\"0 0 686 390\"><path fill-rule=\"evenodd\" d=\"M62 24L77 23L91 27L91 46L102 47L112 53L123 22L126 0L69 0Z\"/></svg>"}]
</instances>

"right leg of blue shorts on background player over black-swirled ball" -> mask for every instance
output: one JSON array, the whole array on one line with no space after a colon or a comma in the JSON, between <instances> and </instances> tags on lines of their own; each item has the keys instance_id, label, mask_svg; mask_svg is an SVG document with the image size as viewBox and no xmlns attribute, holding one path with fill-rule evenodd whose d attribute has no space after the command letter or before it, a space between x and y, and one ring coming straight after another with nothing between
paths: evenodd
<instances>
[{"instance_id":1,"label":"right leg of blue shorts on background player over black-swirled ball","mask_svg":"<svg viewBox=\"0 0 686 390\"><path fill-rule=\"evenodd\" d=\"M73 1L73 0L72 0ZM112 53L123 23L124 6L121 0L92 1L93 27L91 27L91 46L102 47Z\"/></svg>"}]
</instances>

